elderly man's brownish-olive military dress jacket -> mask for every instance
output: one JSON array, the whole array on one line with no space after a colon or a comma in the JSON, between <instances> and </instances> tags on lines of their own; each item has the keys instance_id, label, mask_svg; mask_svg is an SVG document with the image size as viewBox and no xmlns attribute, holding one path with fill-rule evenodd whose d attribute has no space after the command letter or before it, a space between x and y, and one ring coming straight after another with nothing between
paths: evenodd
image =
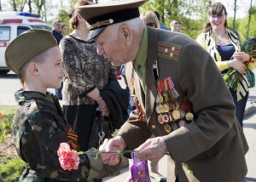
<instances>
[{"instance_id":1,"label":"elderly man's brownish-olive military dress jacket","mask_svg":"<svg viewBox=\"0 0 256 182\"><path fill-rule=\"evenodd\" d=\"M155 74L155 67L158 74ZM136 111L119 130L129 150L137 148L152 134L163 136L168 157L167 181L239 182L247 173L247 141L235 117L235 105L215 62L201 45L190 37L172 31L148 27L148 58L143 90L135 71L131 84L132 62L125 76L142 105L146 122L138 122ZM158 122L155 99L159 81L172 77L174 88L183 103L192 104L194 120L171 133ZM188 165L194 176L183 173L181 163ZM175 169L174 169L174 164ZM175 171L175 172L174 172ZM189 178L189 179L188 179ZM196 179L195 179L196 178Z\"/></svg>"}]
</instances>

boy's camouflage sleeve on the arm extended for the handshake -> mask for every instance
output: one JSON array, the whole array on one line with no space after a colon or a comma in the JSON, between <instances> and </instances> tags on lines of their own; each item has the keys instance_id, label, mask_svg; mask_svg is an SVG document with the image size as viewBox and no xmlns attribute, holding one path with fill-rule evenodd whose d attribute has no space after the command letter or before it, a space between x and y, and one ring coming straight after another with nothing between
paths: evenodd
<instances>
[{"instance_id":1,"label":"boy's camouflage sleeve on the arm extended for the handshake","mask_svg":"<svg viewBox=\"0 0 256 182\"><path fill-rule=\"evenodd\" d=\"M91 168L86 155L80 155L78 170L63 170L56 154L61 142L69 143L67 135L57 127L54 116L44 111L35 111L24 122L20 138L21 155L32 170L51 179L87 178ZM96 160L101 168L100 157ZM93 164L95 166L95 164Z\"/></svg>"}]
</instances>

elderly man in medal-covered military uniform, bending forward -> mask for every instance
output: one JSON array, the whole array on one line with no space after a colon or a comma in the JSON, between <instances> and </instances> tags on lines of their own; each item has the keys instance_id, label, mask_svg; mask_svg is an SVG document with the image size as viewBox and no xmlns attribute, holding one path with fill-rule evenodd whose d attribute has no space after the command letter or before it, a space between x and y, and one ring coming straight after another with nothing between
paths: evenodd
<instances>
[{"instance_id":1,"label":"elderly man in medal-covered military uniform, bending forward","mask_svg":"<svg viewBox=\"0 0 256 182\"><path fill-rule=\"evenodd\" d=\"M126 64L136 111L108 141L106 151L137 150L155 162L169 154L167 181L241 182L247 141L230 92L207 53L193 39L144 26L145 0L79 7L90 24L89 40L113 65ZM154 134L154 139L149 137ZM115 165L119 156L106 154ZM188 170L193 173L186 173Z\"/></svg>"}]
</instances>

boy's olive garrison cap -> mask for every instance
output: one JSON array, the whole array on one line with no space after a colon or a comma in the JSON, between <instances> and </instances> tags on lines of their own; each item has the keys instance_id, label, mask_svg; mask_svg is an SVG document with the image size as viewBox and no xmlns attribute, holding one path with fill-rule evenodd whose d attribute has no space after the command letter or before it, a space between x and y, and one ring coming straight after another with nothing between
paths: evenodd
<instances>
[{"instance_id":1,"label":"boy's olive garrison cap","mask_svg":"<svg viewBox=\"0 0 256 182\"><path fill-rule=\"evenodd\" d=\"M5 64L18 73L22 65L48 48L57 46L50 31L32 29L16 37L5 50Z\"/></svg>"}]
</instances>

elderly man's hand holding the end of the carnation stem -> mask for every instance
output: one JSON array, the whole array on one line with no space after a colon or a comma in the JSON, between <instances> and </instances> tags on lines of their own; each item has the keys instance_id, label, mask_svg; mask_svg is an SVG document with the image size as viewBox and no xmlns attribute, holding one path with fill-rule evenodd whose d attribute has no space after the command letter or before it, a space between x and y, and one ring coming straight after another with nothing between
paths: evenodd
<instances>
[{"instance_id":1,"label":"elderly man's hand holding the end of the carnation stem","mask_svg":"<svg viewBox=\"0 0 256 182\"><path fill-rule=\"evenodd\" d=\"M166 155L168 150L164 139L162 137L156 137L154 139L147 139L135 151L138 151L136 156L140 160L158 162L161 157Z\"/></svg>"}]
</instances>

